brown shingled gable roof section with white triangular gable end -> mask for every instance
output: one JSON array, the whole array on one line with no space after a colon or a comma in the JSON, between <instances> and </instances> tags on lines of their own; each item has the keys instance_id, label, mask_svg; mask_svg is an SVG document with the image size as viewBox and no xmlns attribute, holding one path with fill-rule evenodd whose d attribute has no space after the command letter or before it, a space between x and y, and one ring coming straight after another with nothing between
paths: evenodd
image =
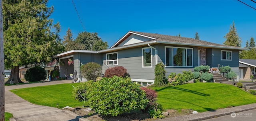
<instances>
[{"instance_id":1,"label":"brown shingled gable roof section with white triangular gable end","mask_svg":"<svg viewBox=\"0 0 256 121\"><path fill-rule=\"evenodd\" d=\"M126 38L128 38L132 34L136 34L142 37L148 37L152 39L150 41L131 44L133 47L136 47L138 45L143 45L143 43L144 45L147 45L148 43L163 43L163 44L173 44L173 45L190 45L190 46L210 47L210 48L248 50L241 47L221 45L217 43L211 43L208 41L202 41L202 40L197 40L197 39L192 39L187 37L176 37L176 36L170 36L170 35L161 35L157 33L145 33L145 32L138 32L138 31L128 31L128 33L126 33L121 39L119 39L112 47L110 47L110 49L114 49L116 47L118 48L118 45L120 45ZM129 47L128 45L124 45L123 47L125 46Z\"/></svg>"}]
</instances>

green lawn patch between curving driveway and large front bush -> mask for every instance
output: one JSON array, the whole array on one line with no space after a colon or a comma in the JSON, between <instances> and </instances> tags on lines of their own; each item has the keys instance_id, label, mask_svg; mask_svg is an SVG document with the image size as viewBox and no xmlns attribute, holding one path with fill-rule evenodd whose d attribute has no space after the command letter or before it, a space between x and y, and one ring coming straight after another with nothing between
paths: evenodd
<instances>
[{"instance_id":1,"label":"green lawn patch between curving driveway and large front bush","mask_svg":"<svg viewBox=\"0 0 256 121\"><path fill-rule=\"evenodd\" d=\"M72 85L76 87L78 84L79 83L57 84L10 91L20 96L24 100L37 105L56 107L56 104L58 103L58 108L63 108L66 106L77 107L84 105L84 102L78 102L74 100L72 96Z\"/></svg>"}]
</instances>

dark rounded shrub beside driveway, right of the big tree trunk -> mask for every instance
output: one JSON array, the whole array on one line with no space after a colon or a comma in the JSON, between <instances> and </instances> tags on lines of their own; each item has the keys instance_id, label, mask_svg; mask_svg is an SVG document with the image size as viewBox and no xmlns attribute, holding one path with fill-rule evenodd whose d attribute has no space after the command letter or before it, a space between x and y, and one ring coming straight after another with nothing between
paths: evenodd
<instances>
[{"instance_id":1,"label":"dark rounded shrub beside driveway, right of the big tree trunk","mask_svg":"<svg viewBox=\"0 0 256 121\"><path fill-rule=\"evenodd\" d=\"M28 82L38 82L46 79L46 71L40 66L29 68L24 75Z\"/></svg>"}]
</instances>

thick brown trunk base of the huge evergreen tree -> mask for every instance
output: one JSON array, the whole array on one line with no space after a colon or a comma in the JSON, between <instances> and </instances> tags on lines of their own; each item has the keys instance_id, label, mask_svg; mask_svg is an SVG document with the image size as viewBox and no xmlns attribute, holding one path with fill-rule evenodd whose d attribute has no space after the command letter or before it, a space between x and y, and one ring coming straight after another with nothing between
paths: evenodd
<instances>
[{"instance_id":1,"label":"thick brown trunk base of the huge evergreen tree","mask_svg":"<svg viewBox=\"0 0 256 121\"><path fill-rule=\"evenodd\" d=\"M17 83L23 83L20 80L20 76L19 76L19 66L15 66L14 68L12 68L10 78L8 79L7 82L5 82L5 84L17 84Z\"/></svg>"}]
</instances>

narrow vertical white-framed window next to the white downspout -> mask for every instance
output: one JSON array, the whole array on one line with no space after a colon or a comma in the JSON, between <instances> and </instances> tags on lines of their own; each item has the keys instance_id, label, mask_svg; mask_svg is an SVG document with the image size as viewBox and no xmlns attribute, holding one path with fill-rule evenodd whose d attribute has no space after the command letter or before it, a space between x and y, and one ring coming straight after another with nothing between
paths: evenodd
<instances>
[{"instance_id":1,"label":"narrow vertical white-framed window next to the white downspout","mask_svg":"<svg viewBox=\"0 0 256 121\"><path fill-rule=\"evenodd\" d=\"M152 67L152 48L142 48L142 67Z\"/></svg>"}]
</instances>

